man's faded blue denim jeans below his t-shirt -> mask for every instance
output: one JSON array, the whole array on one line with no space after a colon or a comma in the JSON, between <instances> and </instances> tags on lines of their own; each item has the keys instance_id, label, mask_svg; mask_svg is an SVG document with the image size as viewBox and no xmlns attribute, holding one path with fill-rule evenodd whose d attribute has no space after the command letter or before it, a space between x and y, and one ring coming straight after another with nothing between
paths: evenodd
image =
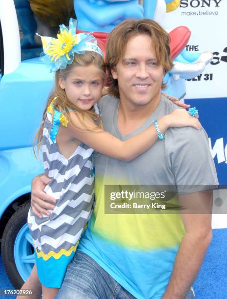
<instances>
[{"instance_id":1,"label":"man's faded blue denim jeans below his t-shirt","mask_svg":"<svg viewBox=\"0 0 227 299\"><path fill-rule=\"evenodd\" d=\"M80 251L68 265L62 287L55 298L135 299L93 258ZM190 290L186 299L194 298Z\"/></svg>"}]
</instances>

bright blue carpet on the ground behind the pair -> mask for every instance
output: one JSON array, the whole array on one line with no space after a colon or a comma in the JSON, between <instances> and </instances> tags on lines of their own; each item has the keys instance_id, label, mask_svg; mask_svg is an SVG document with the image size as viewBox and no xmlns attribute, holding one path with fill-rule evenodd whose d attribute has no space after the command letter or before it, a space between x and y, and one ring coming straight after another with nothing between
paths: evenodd
<instances>
[{"instance_id":1,"label":"bright blue carpet on the ground behind the pair","mask_svg":"<svg viewBox=\"0 0 227 299\"><path fill-rule=\"evenodd\" d=\"M227 229L213 230L212 241L193 288L196 294L196 299L227 298ZM13 286L5 274L1 256L0 289L13 289Z\"/></svg>"}]
</instances>

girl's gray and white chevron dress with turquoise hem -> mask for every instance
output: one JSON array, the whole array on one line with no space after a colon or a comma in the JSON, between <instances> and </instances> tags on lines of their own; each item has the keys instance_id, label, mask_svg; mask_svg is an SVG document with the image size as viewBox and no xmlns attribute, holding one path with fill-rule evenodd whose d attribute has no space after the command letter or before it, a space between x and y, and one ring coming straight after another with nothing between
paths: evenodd
<instances>
[{"instance_id":1,"label":"girl's gray and white chevron dress with turquoise hem","mask_svg":"<svg viewBox=\"0 0 227 299\"><path fill-rule=\"evenodd\" d=\"M56 136L64 118L56 108L47 113L42 134L45 174L51 182L44 192L56 199L50 216L28 213L35 245L38 276L46 287L60 288L94 202L93 149L81 144L69 159L59 151ZM63 118L62 118L63 116Z\"/></svg>"}]
</instances>

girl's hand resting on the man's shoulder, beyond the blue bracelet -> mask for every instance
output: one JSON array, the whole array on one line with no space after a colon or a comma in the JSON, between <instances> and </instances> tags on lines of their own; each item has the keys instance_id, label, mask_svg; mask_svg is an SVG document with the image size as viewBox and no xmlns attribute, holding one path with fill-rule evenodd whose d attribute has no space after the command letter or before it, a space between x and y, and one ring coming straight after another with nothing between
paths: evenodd
<instances>
[{"instance_id":1,"label":"girl's hand resting on the man's shoulder, beyond the blue bracelet","mask_svg":"<svg viewBox=\"0 0 227 299\"><path fill-rule=\"evenodd\" d=\"M176 109L171 114L165 115L168 128L193 127L199 130L201 123L197 117L192 117L185 109Z\"/></svg>"}]
</instances>

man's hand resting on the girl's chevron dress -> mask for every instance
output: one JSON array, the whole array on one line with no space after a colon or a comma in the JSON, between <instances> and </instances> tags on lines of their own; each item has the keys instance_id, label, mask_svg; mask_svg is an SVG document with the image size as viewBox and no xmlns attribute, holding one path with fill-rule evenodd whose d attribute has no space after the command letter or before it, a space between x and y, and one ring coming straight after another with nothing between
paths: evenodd
<instances>
[{"instance_id":1,"label":"man's hand resting on the girl's chevron dress","mask_svg":"<svg viewBox=\"0 0 227 299\"><path fill-rule=\"evenodd\" d=\"M36 176L32 181L31 207L34 214L42 218L42 214L47 216L50 212L47 210L54 210L55 206L48 202L55 203L56 200L43 192L45 186L49 184L51 179L45 175Z\"/></svg>"}]
</instances>

